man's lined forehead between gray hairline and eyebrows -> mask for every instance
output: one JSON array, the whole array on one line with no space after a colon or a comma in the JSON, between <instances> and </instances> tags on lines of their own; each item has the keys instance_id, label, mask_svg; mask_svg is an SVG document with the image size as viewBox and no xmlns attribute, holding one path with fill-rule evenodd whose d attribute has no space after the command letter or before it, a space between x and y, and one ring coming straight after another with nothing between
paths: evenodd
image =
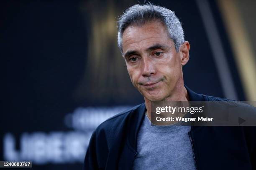
<instances>
[{"instance_id":1,"label":"man's lined forehead between gray hairline and eyebrows","mask_svg":"<svg viewBox=\"0 0 256 170\"><path fill-rule=\"evenodd\" d=\"M151 21L143 25L130 25L123 32L123 52L128 48L142 48L156 43L171 42L166 26L160 21Z\"/></svg>"}]
</instances>

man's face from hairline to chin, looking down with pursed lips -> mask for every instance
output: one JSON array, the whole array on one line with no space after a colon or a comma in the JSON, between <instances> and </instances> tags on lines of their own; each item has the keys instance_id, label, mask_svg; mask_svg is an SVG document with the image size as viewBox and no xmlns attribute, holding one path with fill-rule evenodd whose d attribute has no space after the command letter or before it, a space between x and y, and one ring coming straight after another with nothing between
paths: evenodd
<instances>
[{"instance_id":1,"label":"man's face from hairline to chin, looking down with pursed lips","mask_svg":"<svg viewBox=\"0 0 256 170\"><path fill-rule=\"evenodd\" d=\"M150 101L164 100L183 85L182 52L176 52L160 21L126 28L123 57L133 85Z\"/></svg>"}]
</instances>

